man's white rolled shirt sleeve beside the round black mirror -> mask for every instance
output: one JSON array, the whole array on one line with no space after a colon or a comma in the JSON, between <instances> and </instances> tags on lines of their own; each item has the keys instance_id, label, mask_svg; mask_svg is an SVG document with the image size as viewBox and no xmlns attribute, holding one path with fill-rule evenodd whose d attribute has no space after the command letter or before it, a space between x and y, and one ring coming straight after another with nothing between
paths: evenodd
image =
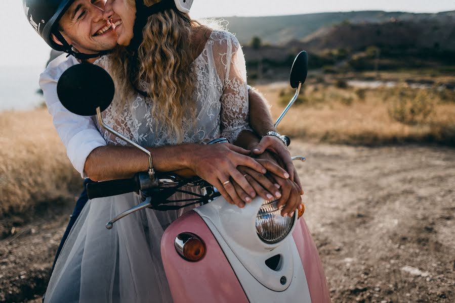
<instances>
[{"instance_id":1,"label":"man's white rolled shirt sleeve beside the round black mirror","mask_svg":"<svg viewBox=\"0 0 455 303\"><path fill-rule=\"evenodd\" d=\"M66 154L82 178L87 178L84 166L92 150L105 146L106 141L96 127L92 117L71 113L60 103L57 95L57 82L61 74L70 66L78 64L68 58L61 62L59 57L51 62L39 77L39 86L43 90L49 114L57 133L66 147Z\"/></svg>"}]
</instances>

